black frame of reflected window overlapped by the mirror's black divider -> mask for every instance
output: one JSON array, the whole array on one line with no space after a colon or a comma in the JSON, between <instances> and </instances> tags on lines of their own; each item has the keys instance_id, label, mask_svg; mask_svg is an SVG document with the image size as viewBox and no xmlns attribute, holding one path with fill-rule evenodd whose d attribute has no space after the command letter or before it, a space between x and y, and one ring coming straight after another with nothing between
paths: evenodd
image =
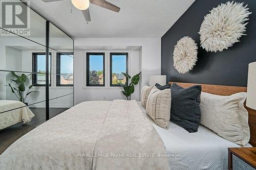
<instances>
[{"instance_id":1,"label":"black frame of reflected window overlapped by the mirror's black divider","mask_svg":"<svg viewBox=\"0 0 256 170\"><path fill-rule=\"evenodd\" d=\"M46 53L32 53L32 72L33 72L33 75L32 75L32 84L35 84L37 83L37 55L45 55L46 56ZM52 53L49 53L49 55L51 56L51 64L50 64L50 84L49 86L52 86ZM46 84L35 84L33 86L46 86Z\"/></svg>"}]
</instances>

